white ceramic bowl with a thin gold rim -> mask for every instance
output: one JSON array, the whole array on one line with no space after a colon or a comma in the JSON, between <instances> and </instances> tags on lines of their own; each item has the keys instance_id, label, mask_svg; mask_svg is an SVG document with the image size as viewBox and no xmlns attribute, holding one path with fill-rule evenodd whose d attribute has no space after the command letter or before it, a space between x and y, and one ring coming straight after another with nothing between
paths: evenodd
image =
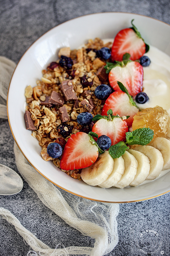
<instances>
[{"instance_id":1,"label":"white ceramic bowl with a thin gold rim","mask_svg":"<svg viewBox=\"0 0 170 256\"><path fill-rule=\"evenodd\" d=\"M117 32L131 26L131 20L145 42L170 55L170 26L159 20L130 13L96 13L69 20L41 36L22 56L12 76L8 91L8 119L14 139L29 163L58 187L80 197L104 202L123 203L150 199L170 191L170 172L138 187L103 189L71 178L41 157L41 147L25 129L25 87L35 86L61 47L76 49L88 39L114 38Z\"/></svg>"}]
</instances>

